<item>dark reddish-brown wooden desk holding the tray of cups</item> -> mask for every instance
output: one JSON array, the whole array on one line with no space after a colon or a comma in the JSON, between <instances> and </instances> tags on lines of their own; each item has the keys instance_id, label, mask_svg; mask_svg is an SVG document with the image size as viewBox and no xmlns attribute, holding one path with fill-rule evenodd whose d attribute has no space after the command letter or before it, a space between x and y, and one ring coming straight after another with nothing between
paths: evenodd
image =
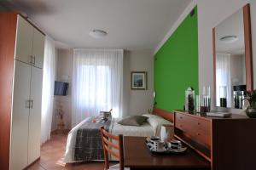
<instances>
[{"instance_id":1,"label":"dark reddish-brown wooden desk holding the tray of cups","mask_svg":"<svg viewBox=\"0 0 256 170\"><path fill-rule=\"evenodd\" d=\"M131 169L211 169L209 161L188 149L183 155L153 155L144 137L124 137L125 167Z\"/></svg>"}]
</instances>

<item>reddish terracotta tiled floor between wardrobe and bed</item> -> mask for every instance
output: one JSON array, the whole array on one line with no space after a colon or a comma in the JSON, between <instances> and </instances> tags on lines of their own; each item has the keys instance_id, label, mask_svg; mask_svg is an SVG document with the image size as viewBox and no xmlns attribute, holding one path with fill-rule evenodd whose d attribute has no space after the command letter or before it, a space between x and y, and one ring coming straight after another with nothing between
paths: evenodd
<instances>
[{"instance_id":1,"label":"reddish terracotta tiled floor between wardrobe and bed","mask_svg":"<svg viewBox=\"0 0 256 170\"><path fill-rule=\"evenodd\" d=\"M86 162L65 164L63 160L67 135L54 134L51 139L43 144L41 158L35 162L29 170L103 170L103 162Z\"/></svg>"}]
</instances>

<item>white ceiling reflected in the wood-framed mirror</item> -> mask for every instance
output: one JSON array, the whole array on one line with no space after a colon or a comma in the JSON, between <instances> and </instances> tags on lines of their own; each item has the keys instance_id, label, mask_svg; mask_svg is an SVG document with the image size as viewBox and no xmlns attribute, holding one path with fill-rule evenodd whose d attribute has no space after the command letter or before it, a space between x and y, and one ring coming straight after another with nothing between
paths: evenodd
<instances>
[{"instance_id":1,"label":"white ceiling reflected in the wood-framed mirror","mask_svg":"<svg viewBox=\"0 0 256 170\"><path fill-rule=\"evenodd\" d=\"M236 36L236 42L225 43L221 37ZM232 14L228 19L216 26L216 51L218 53L244 54L244 26L242 9Z\"/></svg>"}]
</instances>

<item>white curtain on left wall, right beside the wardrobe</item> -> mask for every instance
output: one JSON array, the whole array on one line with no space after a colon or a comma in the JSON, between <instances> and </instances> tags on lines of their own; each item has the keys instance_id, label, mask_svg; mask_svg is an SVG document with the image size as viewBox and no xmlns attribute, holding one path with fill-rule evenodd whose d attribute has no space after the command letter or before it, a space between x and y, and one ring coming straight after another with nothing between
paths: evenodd
<instances>
[{"instance_id":1,"label":"white curtain on left wall, right beside the wardrobe","mask_svg":"<svg viewBox=\"0 0 256 170\"><path fill-rule=\"evenodd\" d=\"M50 138L55 84L55 42L46 37L44 42L44 70L41 118L41 144Z\"/></svg>"}]
</instances>

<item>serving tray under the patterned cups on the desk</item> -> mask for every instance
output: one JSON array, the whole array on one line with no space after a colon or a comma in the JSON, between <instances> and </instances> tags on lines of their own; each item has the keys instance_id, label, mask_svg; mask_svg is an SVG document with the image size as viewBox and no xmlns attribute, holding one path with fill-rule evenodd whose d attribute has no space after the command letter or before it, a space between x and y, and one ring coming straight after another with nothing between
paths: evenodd
<instances>
[{"instance_id":1,"label":"serving tray under the patterned cups on the desk","mask_svg":"<svg viewBox=\"0 0 256 170\"><path fill-rule=\"evenodd\" d=\"M181 147L177 150L172 148L165 148L164 150L152 150L147 140L145 141L145 144L151 153L158 154L158 155L182 155L187 150L187 147Z\"/></svg>"}]
</instances>

